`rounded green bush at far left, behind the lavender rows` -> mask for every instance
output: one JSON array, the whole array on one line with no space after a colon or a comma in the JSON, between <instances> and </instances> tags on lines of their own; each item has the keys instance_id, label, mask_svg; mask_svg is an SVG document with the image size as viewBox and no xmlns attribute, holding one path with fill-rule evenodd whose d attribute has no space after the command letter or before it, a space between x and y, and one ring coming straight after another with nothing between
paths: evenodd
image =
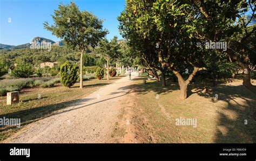
<instances>
[{"instance_id":1,"label":"rounded green bush at far left, behind the lavender rows","mask_svg":"<svg viewBox=\"0 0 256 161\"><path fill-rule=\"evenodd\" d=\"M15 78L29 78L33 72L34 70L31 64L20 62L17 67L11 71L11 76L14 76Z\"/></svg>"}]
</instances>

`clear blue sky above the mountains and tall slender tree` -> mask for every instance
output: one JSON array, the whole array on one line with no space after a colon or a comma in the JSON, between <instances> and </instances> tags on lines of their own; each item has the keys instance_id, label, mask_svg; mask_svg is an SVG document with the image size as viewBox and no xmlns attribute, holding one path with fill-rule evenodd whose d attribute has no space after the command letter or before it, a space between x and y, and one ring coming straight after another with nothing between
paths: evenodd
<instances>
[{"instance_id":1,"label":"clear blue sky above the mountains and tall slender tree","mask_svg":"<svg viewBox=\"0 0 256 161\"><path fill-rule=\"evenodd\" d=\"M30 43L34 37L44 37L58 41L43 27L48 21L52 24L53 10L58 9L59 0L0 0L0 44L21 45ZM125 0L75 0L80 10L93 12L104 20L104 28L109 30L107 39L118 36L117 16L124 10Z\"/></svg>"}]
</instances>

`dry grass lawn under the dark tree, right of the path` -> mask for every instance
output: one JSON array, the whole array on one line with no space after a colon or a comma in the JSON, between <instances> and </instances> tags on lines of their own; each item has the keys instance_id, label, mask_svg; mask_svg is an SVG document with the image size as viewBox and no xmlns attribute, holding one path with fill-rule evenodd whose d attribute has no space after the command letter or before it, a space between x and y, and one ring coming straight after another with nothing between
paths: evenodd
<instances>
[{"instance_id":1,"label":"dry grass lawn under the dark tree, right of the path","mask_svg":"<svg viewBox=\"0 0 256 161\"><path fill-rule=\"evenodd\" d=\"M201 93L189 85L188 98L179 99L178 83L138 79L132 85L136 95L132 122L139 142L146 143L255 143L256 95L240 80L220 84ZM196 118L197 127L176 125L176 118ZM246 124L247 123L247 124Z\"/></svg>"}]
</instances>

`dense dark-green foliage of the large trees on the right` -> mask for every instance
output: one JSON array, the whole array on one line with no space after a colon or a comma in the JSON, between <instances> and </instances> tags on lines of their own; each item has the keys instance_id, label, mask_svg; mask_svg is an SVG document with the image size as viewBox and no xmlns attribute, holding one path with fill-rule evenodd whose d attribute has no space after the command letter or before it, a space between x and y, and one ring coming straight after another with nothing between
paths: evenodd
<instances>
[{"instance_id":1,"label":"dense dark-green foliage of the large trees on the right","mask_svg":"<svg viewBox=\"0 0 256 161\"><path fill-rule=\"evenodd\" d=\"M146 67L167 67L170 72L188 78L192 67L211 64L210 71L225 78L237 69L226 63L228 56L239 65L253 66L256 62L252 43L255 27L245 27L250 24L247 20L255 19L249 16L245 20L245 13L255 8L255 3L250 2L126 1L125 10L118 17L119 29L136 51L132 57L139 58L137 62ZM207 50L205 42L210 40L228 42L227 51ZM190 73L184 74L185 69Z\"/></svg>"}]
</instances>

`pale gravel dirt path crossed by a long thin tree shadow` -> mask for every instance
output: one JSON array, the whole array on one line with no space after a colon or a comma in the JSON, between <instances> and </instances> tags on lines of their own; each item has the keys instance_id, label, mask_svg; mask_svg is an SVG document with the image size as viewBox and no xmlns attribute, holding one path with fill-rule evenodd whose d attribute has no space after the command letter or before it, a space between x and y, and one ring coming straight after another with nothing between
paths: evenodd
<instances>
[{"instance_id":1,"label":"pale gravel dirt path crossed by a long thin tree shadow","mask_svg":"<svg viewBox=\"0 0 256 161\"><path fill-rule=\"evenodd\" d=\"M111 141L129 100L132 84L127 76L80 100L55 115L27 125L5 143L106 143Z\"/></svg>"}]
</instances>

